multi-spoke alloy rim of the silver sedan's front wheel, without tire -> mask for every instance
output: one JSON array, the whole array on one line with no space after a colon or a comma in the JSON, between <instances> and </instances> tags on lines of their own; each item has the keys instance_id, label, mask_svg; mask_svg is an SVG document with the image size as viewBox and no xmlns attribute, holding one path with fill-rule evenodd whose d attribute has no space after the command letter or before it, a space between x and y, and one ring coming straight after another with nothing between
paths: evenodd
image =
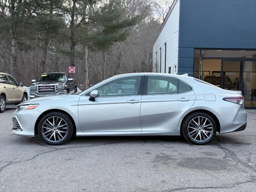
<instances>
[{"instance_id":1,"label":"multi-spoke alloy rim of the silver sedan's front wheel, without tire","mask_svg":"<svg viewBox=\"0 0 256 192\"><path fill-rule=\"evenodd\" d=\"M68 124L61 117L49 117L42 125L42 134L50 142L60 142L68 134Z\"/></svg>"}]
</instances>

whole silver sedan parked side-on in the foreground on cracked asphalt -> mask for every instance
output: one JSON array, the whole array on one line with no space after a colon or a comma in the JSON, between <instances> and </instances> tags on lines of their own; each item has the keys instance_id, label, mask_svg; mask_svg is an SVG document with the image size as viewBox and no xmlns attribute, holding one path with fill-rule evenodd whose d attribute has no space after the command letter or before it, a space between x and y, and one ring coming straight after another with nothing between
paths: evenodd
<instances>
[{"instance_id":1,"label":"whole silver sedan parked side-on in the foreground on cracked asphalt","mask_svg":"<svg viewBox=\"0 0 256 192\"><path fill-rule=\"evenodd\" d=\"M113 92L116 82L120 88L132 82L132 91ZM243 104L240 91L188 76L122 74L79 94L23 102L13 114L11 132L38 135L50 145L64 144L72 135L182 135L193 144L207 144L216 132L246 128Z\"/></svg>"}]
</instances>

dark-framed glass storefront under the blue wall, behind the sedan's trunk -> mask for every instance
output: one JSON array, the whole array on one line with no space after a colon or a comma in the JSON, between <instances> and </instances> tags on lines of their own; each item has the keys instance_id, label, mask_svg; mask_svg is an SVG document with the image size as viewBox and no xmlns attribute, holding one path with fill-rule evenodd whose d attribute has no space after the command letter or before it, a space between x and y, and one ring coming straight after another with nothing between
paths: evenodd
<instances>
[{"instance_id":1,"label":"dark-framed glass storefront under the blue wall, behind the sedan's trunk","mask_svg":"<svg viewBox=\"0 0 256 192\"><path fill-rule=\"evenodd\" d=\"M256 50L194 49L194 77L240 90L244 106L256 108Z\"/></svg>"}]
</instances>

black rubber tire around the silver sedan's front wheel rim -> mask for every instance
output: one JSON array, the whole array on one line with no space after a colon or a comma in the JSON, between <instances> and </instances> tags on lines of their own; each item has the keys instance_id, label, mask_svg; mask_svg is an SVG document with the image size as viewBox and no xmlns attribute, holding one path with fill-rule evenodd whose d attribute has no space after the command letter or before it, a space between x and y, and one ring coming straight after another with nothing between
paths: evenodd
<instances>
[{"instance_id":1,"label":"black rubber tire around the silver sedan's front wheel rim","mask_svg":"<svg viewBox=\"0 0 256 192\"><path fill-rule=\"evenodd\" d=\"M51 141L51 140L48 140L44 137L43 133L42 133L42 126L44 124L44 122L48 119L48 118L51 118L51 117L60 117L62 118L64 121L66 121L66 124L67 124L67 134L64 136L64 138L62 140L60 140L59 142L54 142L54 141ZM63 114L61 112L51 112L49 114L46 114L45 116L43 116L38 124L38 136L40 137L40 139L49 144L49 145L62 145L66 142L68 142L68 140L70 140L72 134L73 134L73 124L72 124L72 121L70 120L70 118L66 115L66 114Z\"/></svg>"}]
</instances>

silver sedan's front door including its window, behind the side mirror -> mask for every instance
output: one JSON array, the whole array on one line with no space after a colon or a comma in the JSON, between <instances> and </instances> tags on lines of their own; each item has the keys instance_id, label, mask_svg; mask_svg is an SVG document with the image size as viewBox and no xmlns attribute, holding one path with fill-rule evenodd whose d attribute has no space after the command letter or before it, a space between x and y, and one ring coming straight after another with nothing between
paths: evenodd
<instances>
[{"instance_id":1,"label":"silver sedan's front door including its window, behind the side mirror","mask_svg":"<svg viewBox=\"0 0 256 192\"><path fill-rule=\"evenodd\" d=\"M111 86L119 78L96 88L98 97L95 101L89 100L89 93L80 97L78 118L82 132L141 131L140 102L144 76L121 79L139 83L133 92L118 94L111 90Z\"/></svg>"}]
</instances>

